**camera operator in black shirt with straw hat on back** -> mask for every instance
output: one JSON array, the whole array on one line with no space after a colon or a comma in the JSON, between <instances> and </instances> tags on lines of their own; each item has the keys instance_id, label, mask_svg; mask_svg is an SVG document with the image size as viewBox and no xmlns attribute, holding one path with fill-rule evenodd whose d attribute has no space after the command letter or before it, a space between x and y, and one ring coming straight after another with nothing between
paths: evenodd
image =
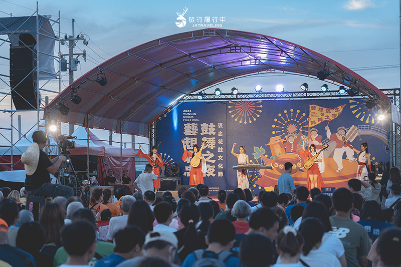
<instances>
[{"instance_id":1,"label":"camera operator in black shirt with straw hat on back","mask_svg":"<svg viewBox=\"0 0 401 267\"><path fill-rule=\"evenodd\" d=\"M50 173L59 170L60 165L66 160L64 155L59 155L54 159L49 159L43 148L47 144L46 133L44 131L35 131L32 134L34 141L22 154L21 161L25 165L25 190L30 195L45 196L64 196L69 198L73 196L73 190L69 186L61 184L52 184Z\"/></svg>"}]
</instances>

